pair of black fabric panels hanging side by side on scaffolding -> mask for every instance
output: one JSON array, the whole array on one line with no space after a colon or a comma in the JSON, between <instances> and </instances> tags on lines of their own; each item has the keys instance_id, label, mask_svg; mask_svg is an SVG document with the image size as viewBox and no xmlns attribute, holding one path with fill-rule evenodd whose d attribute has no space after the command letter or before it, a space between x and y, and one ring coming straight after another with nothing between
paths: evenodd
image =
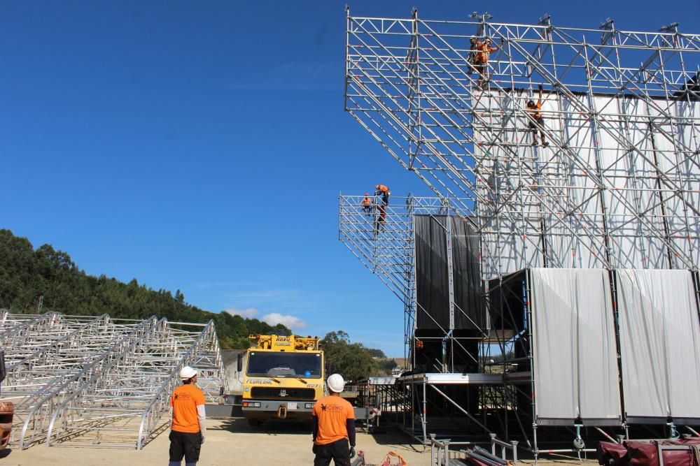
<instances>
[{"instance_id":1,"label":"pair of black fabric panels hanging side by side on scaffolding","mask_svg":"<svg viewBox=\"0 0 700 466\"><path fill-rule=\"evenodd\" d=\"M484 326L479 238L468 222L456 217L416 215L416 326L423 329L449 328L449 272L447 235L444 226L451 221L452 277L455 328L476 329ZM468 317L467 317L468 316Z\"/></svg>"}]
</instances>

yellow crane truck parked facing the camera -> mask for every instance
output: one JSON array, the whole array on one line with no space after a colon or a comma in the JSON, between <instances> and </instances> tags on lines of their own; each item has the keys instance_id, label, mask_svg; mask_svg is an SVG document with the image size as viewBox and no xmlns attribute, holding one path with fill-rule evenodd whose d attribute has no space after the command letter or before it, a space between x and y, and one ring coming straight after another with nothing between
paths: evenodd
<instances>
[{"instance_id":1,"label":"yellow crane truck parked facing the camera","mask_svg":"<svg viewBox=\"0 0 700 466\"><path fill-rule=\"evenodd\" d=\"M251 335L249 339L241 400L248 423L310 421L314 403L323 397L321 340L295 335Z\"/></svg>"}]
</instances>

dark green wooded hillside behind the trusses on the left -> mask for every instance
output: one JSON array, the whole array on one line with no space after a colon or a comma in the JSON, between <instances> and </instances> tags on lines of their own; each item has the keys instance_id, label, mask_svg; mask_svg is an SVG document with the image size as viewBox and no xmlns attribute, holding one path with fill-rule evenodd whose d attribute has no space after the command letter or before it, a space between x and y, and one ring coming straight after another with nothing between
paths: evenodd
<instances>
[{"instance_id":1,"label":"dark green wooded hillside behind the trusses on the left","mask_svg":"<svg viewBox=\"0 0 700 466\"><path fill-rule=\"evenodd\" d=\"M104 275L87 275L63 251L50 245L34 250L27 238L0 229L0 308L33 314L43 296L43 312L109 314L117 319L165 317L169 321L206 323L214 319L224 349L247 348L248 335L290 335L282 324L270 326L228 312L207 312L185 302L180 290L155 291L136 279L123 283Z\"/></svg>"}]
</instances>

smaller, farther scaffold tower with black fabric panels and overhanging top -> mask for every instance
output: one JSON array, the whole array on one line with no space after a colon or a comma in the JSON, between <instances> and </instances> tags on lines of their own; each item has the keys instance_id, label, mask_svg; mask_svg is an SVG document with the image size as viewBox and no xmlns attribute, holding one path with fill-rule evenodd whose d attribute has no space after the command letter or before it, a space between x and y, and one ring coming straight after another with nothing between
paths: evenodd
<instances>
[{"instance_id":1,"label":"smaller, farther scaffold tower with black fabric panels and overhanging top","mask_svg":"<svg viewBox=\"0 0 700 466\"><path fill-rule=\"evenodd\" d=\"M479 238L464 212L439 198L413 196L393 196L386 206L375 199L366 211L360 207L363 198L340 196L339 239L404 303L412 367L474 372L478 361L468 342L488 335ZM417 350L416 339L421 342Z\"/></svg>"}]
</instances>

